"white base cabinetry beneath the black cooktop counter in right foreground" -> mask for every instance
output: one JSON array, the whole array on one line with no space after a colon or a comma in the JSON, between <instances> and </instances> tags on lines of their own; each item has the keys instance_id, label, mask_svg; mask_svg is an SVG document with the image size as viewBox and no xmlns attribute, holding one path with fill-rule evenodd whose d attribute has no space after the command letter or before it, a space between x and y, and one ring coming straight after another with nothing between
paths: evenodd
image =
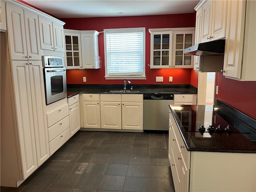
<instances>
[{"instance_id":1,"label":"white base cabinetry beneath the black cooktop counter in right foreground","mask_svg":"<svg viewBox=\"0 0 256 192\"><path fill-rule=\"evenodd\" d=\"M168 158L176 192L256 191L256 154L188 151L171 112Z\"/></svg>"}]
</instances>

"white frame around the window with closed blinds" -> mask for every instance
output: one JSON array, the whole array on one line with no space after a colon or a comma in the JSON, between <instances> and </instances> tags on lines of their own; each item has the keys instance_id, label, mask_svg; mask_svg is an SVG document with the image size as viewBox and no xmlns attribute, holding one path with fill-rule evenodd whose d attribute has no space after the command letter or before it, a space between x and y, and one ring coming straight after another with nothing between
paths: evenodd
<instances>
[{"instance_id":1,"label":"white frame around the window with closed blinds","mask_svg":"<svg viewBox=\"0 0 256 192\"><path fill-rule=\"evenodd\" d=\"M118 75L109 76L108 75L108 56L107 56L107 44L106 44L106 34L108 33L129 33L129 32L142 32L142 74L141 75ZM146 28L114 28L114 29L104 29L104 60L105 60L105 79L146 79L146 61L145 61L145 50L146 50Z\"/></svg>"}]
</instances>

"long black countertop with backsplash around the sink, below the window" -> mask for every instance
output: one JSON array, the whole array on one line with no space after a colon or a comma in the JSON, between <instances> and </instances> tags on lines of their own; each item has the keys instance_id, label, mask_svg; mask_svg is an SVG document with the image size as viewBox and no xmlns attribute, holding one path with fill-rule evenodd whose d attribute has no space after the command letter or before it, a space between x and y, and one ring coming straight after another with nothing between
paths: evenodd
<instances>
[{"instance_id":1,"label":"long black countertop with backsplash around the sink, below the window","mask_svg":"<svg viewBox=\"0 0 256 192\"><path fill-rule=\"evenodd\" d=\"M126 92L125 94L147 94L147 93L175 93L175 94L197 94L197 88L188 84L181 85L161 85L161 84L128 84L127 90L140 90L140 92ZM81 84L81 85L67 85L68 97L74 96L78 93L112 93L124 94L120 92L109 92L109 90L122 90L124 85L121 84Z\"/></svg>"}]
</instances>

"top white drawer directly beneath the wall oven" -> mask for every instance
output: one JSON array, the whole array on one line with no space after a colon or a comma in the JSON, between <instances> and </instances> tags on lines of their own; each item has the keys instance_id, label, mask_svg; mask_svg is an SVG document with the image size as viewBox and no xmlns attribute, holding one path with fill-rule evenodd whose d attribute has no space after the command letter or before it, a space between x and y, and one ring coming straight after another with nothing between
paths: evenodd
<instances>
[{"instance_id":1,"label":"top white drawer directly beneath the wall oven","mask_svg":"<svg viewBox=\"0 0 256 192\"><path fill-rule=\"evenodd\" d=\"M56 122L62 120L64 117L68 116L68 104L57 108L46 114L48 128L55 124Z\"/></svg>"}]
</instances>

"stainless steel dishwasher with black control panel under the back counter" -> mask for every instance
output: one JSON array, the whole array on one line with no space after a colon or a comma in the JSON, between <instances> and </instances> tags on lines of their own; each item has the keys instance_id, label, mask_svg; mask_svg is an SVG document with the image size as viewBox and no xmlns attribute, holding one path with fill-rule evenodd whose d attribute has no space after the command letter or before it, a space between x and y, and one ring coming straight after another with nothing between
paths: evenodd
<instances>
[{"instance_id":1,"label":"stainless steel dishwasher with black control panel under the back counter","mask_svg":"<svg viewBox=\"0 0 256 192\"><path fill-rule=\"evenodd\" d=\"M174 104L174 94L156 93L143 96L143 129L168 130L169 104Z\"/></svg>"}]
</instances>

